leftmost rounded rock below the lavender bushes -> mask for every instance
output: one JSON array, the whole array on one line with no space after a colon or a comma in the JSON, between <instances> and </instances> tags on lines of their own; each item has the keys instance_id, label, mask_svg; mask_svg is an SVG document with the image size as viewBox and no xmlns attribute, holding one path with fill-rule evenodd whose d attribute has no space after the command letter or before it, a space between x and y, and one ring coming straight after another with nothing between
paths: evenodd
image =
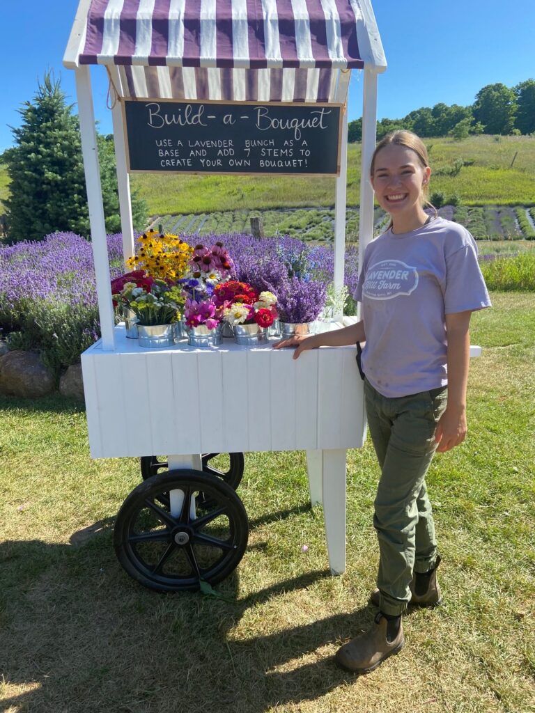
<instances>
[{"instance_id":1,"label":"leftmost rounded rock below the lavender bushes","mask_svg":"<svg viewBox=\"0 0 535 713\"><path fill-rule=\"evenodd\" d=\"M0 394L36 399L56 389L54 376L34 352L8 352L0 356Z\"/></svg>"}]
</instances>

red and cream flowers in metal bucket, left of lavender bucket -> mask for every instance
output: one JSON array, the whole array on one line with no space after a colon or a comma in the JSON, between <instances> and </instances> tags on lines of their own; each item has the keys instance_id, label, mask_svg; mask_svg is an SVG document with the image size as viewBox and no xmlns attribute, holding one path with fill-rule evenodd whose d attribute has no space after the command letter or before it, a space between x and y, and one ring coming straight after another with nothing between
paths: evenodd
<instances>
[{"instance_id":1,"label":"red and cream flowers in metal bucket, left of lavender bucket","mask_svg":"<svg viewBox=\"0 0 535 713\"><path fill-rule=\"evenodd\" d=\"M267 327L278 316L275 294L267 290L258 294L247 282L229 280L215 287L214 297L238 344L265 342Z\"/></svg>"}]
</instances>

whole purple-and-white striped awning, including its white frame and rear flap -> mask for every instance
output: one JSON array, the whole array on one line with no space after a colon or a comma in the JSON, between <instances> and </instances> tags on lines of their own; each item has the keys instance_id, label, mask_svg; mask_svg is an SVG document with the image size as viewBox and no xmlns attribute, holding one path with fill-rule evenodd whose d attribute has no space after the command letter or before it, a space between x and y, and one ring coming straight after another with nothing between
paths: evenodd
<instances>
[{"instance_id":1,"label":"whole purple-and-white striped awning, including its white frame and rear flap","mask_svg":"<svg viewBox=\"0 0 535 713\"><path fill-rule=\"evenodd\" d=\"M66 66L131 97L343 102L382 55L370 0L81 0L75 28Z\"/></svg>"}]
</instances>

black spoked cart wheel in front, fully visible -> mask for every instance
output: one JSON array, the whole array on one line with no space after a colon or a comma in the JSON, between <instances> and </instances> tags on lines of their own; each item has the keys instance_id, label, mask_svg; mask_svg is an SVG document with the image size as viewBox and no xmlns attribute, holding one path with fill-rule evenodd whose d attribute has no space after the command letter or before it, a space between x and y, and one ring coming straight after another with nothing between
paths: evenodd
<instances>
[{"instance_id":1,"label":"black spoked cart wheel in front, fully visible","mask_svg":"<svg viewBox=\"0 0 535 713\"><path fill-rule=\"evenodd\" d=\"M204 498L198 509L198 498ZM194 470L153 476L134 488L118 512L113 546L126 572L160 592L217 584L240 563L249 534L233 488Z\"/></svg>"}]
</instances>

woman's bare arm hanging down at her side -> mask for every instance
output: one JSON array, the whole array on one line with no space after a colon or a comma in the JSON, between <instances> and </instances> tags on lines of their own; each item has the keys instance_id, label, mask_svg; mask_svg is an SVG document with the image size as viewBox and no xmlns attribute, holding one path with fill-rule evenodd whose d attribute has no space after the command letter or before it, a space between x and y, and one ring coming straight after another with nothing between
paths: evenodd
<instances>
[{"instance_id":1,"label":"woman's bare arm hanging down at her side","mask_svg":"<svg viewBox=\"0 0 535 713\"><path fill-rule=\"evenodd\" d=\"M470 359L470 317L472 312L446 315L448 340L448 403L434 436L437 451L458 446L467 435L467 383Z\"/></svg>"}]
</instances>

